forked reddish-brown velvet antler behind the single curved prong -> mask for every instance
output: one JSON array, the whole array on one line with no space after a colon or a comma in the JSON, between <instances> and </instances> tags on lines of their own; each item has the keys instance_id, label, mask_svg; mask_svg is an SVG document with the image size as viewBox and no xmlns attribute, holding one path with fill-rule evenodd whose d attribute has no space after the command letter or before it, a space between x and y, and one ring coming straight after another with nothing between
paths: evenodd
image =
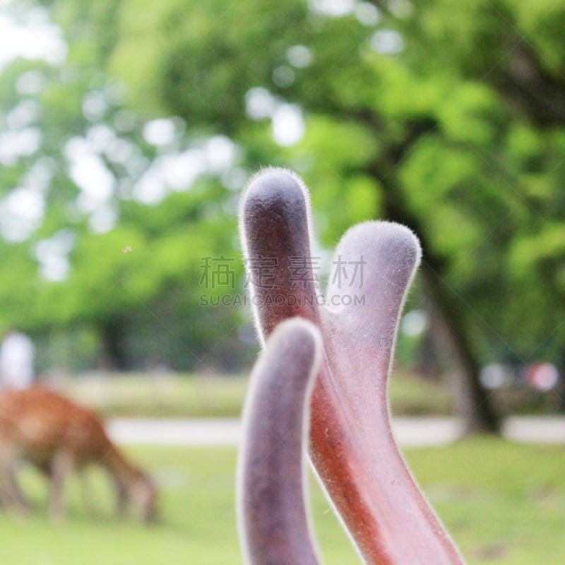
<instances>
[{"instance_id":1,"label":"forked reddish-brown velvet antler behind the single curved prong","mask_svg":"<svg viewBox=\"0 0 565 565\"><path fill-rule=\"evenodd\" d=\"M321 330L323 362L311 397L314 468L367 563L459 564L398 451L388 414L391 356L420 244L389 222L353 227L335 252L328 306L319 306L309 221L307 189L295 174L266 169L251 179L240 229L261 339L292 316Z\"/></svg>"}]
</instances>

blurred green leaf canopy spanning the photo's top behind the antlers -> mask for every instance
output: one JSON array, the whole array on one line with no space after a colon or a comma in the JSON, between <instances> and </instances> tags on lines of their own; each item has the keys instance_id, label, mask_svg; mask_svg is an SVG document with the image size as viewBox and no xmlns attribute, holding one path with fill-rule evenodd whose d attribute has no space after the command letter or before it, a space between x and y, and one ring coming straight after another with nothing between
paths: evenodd
<instances>
[{"instance_id":1,"label":"blurred green leaf canopy spanning the photo's top behind the antlers","mask_svg":"<svg viewBox=\"0 0 565 565\"><path fill-rule=\"evenodd\" d=\"M221 340L242 313L194 307L200 260L239 257L232 189L258 167L284 165L311 187L324 245L355 222L406 206L406 222L427 244L424 261L441 264L483 361L564 358L565 1L414 0L376 11L365 3L357 16L299 0L44 4L64 28L67 60L15 61L0 78L2 127L13 129L8 114L24 100L40 108L31 125L42 133L35 153L1 170L1 194L22 186L38 162L49 170L42 225L24 242L2 244L21 262L13 283L0 285L4 325L59 331L109 316L138 330L148 323L146 349L162 333L149 312L160 312L161 328L174 328L201 358L212 345L205 340ZM18 93L32 69L43 87ZM263 96L258 114L253 93ZM273 124L285 105L300 109L305 131L283 146ZM164 145L144 137L155 117L173 119ZM196 182L169 186L150 206L136 197L153 165L219 134L237 148L225 169L204 167ZM81 189L65 155L73 138L98 143L112 175L106 206L117 222L107 233L93 232L92 211L77 206ZM34 276L37 244L66 227L69 276ZM122 253L125 246L133 251ZM12 307L22 303L23 311Z\"/></svg>"}]
</instances>

